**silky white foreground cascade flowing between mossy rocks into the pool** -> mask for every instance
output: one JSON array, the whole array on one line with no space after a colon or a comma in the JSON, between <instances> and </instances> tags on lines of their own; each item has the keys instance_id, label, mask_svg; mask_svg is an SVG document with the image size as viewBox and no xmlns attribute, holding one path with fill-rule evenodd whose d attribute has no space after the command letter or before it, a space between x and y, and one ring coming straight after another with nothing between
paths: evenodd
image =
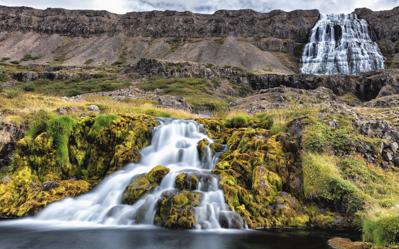
<instances>
[{"instance_id":1,"label":"silky white foreground cascade flowing between mossy rocks into the pool","mask_svg":"<svg viewBox=\"0 0 399 249\"><path fill-rule=\"evenodd\" d=\"M201 193L202 201L195 212L196 228L219 229L220 216L227 220L238 219L236 213L229 211L223 192L218 188L218 178L211 173L221 152L215 153L206 146L202 160L199 159L197 143L200 139L209 139L200 132L204 130L203 126L192 120L159 120L161 125L155 128L151 145L141 150L139 163L129 164L105 178L90 193L49 205L31 219L57 223L132 225L138 223L137 213L143 207L146 215L140 223L153 225L157 200L167 190L176 191L175 178L183 172L197 174L199 178L195 191ZM132 178L148 173L157 165L170 168L160 185L133 205L122 205L122 195Z\"/></svg>"}]
</instances>

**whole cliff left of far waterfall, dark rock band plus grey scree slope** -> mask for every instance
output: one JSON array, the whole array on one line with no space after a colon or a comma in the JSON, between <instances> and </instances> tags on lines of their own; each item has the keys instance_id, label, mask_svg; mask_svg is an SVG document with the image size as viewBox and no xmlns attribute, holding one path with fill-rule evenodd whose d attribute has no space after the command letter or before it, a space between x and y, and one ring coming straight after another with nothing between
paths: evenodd
<instances>
[{"instance_id":1,"label":"whole cliff left of far waterfall, dark rock band plus grey scree slope","mask_svg":"<svg viewBox=\"0 0 399 249\"><path fill-rule=\"evenodd\" d=\"M31 54L37 59L23 64L90 66L158 58L292 74L299 70L301 49L319 14L242 9L120 15L0 6L0 57L19 61Z\"/></svg>"}]
</instances>

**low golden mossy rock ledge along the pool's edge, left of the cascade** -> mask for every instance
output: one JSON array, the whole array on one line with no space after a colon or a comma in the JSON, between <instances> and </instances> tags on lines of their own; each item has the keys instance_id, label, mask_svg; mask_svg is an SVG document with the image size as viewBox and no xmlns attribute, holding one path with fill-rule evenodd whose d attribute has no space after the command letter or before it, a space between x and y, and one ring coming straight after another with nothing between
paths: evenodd
<instances>
[{"instance_id":1,"label":"low golden mossy rock ledge along the pool's edge, left of the cascade","mask_svg":"<svg viewBox=\"0 0 399 249\"><path fill-rule=\"evenodd\" d=\"M30 182L18 187L16 182L0 182L0 209L4 216L35 215L48 204L65 197L88 192L90 184L83 180L48 181L41 185Z\"/></svg>"}]
</instances>

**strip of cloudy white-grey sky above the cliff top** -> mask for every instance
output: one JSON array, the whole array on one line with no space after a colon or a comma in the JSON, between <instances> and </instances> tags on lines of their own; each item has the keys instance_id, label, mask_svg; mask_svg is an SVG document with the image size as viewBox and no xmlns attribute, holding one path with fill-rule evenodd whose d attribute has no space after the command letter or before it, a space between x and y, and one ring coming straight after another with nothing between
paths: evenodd
<instances>
[{"instance_id":1,"label":"strip of cloudy white-grey sky above the cliff top","mask_svg":"<svg viewBox=\"0 0 399 249\"><path fill-rule=\"evenodd\" d=\"M388 10L399 0L0 0L0 5L28 6L39 9L97 9L124 14L131 11L189 10L195 13L214 13L218 9L250 8L259 12L273 9L319 9L321 13L350 13L355 8Z\"/></svg>"}]
</instances>

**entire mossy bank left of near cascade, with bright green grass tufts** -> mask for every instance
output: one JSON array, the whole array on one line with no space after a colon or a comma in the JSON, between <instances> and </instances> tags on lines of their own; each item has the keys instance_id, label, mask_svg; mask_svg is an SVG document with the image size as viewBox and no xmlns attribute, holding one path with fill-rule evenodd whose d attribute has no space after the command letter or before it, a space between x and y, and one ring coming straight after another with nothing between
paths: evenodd
<instances>
[{"instance_id":1,"label":"entire mossy bank left of near cascade, with bright green grass tufts","mask_svg":"<svg viewBox=\"0 0 399 249\"><path fill-rule=\"evenodd\" d=\"M156 125L149 115L100 115L78 120L61 116L43 125L44 131L30 130L16 143L14 168L8 174L11 183L1 185L0 212L34 214L50 202L87 192L97 180L128 162L137 162L138 150L150 143L151 127ZM66 179L72 176L86 181L68 183ZM58 182L60 190L41 191L47 194L35 195L40 201L29 199L30 183L47 181Z\"/></svg>"}]
</instances>

